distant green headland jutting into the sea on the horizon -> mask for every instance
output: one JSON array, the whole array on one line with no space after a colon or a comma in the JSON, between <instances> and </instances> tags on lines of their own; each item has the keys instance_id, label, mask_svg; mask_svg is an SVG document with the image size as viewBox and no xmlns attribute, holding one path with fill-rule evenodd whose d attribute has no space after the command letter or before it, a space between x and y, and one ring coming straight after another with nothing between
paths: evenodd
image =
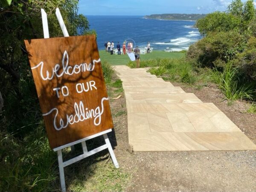
<instances>
[{"instance_id":1,"label":"distant green headland jutting into the sea on the horizon","mask_svg":"<svg viewBox=\"0 0 256 192\"><path fill-rule=\"evenodd\" d=\"M145 19L164 19L164 20L198 20L205 17L204 14L154 14L146 15Z\"/></svg>"}]
</instances>

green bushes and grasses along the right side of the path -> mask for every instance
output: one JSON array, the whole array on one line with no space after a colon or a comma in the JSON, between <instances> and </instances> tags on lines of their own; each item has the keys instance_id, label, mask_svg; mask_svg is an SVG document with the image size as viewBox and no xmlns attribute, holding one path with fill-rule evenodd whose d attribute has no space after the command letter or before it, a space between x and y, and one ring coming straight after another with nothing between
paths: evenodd
<instances>
[{"instance_id":1,"label":"green bushes and grasses along the right side of the path","mask_svg":"<svg viewBox=\"0 0 256 192\"><path fill-rule=\"evenodd\" d=\"M197 87L217 84L228 101L256 99L256 10L253 0L233 0L226 12L213 12L196 24L203 36L180 59L151 59L141 67L169 81ZM135 67L135 62L128 63ZM253 111L253 103L249 111Z\"/></svg>"}]
</instances>

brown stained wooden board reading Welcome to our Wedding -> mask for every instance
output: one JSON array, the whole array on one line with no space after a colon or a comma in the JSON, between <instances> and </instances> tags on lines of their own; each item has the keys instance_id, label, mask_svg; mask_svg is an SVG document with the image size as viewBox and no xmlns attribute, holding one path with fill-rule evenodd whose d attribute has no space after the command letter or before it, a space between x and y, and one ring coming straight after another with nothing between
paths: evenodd
<instances>
[{"instance_id":1,"label":"brown stained wooden board reading Welcome to our Wedding","mask_svg":"<svg viewBox=\"0 0 256 192\"><path fill-rule=\"evenodd\" d=\"M25 44L51 148L113 128L95 35Z\"/></svg>"}]
</instances>

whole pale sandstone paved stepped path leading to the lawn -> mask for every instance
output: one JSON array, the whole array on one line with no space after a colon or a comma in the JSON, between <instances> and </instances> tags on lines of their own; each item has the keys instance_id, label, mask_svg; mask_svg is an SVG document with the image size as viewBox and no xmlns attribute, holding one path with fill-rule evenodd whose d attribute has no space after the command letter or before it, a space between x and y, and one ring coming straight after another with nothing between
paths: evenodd
<instances>
[{"instance_id":1,"label":"whole pale sandstone paved stepped path leading to the lawn","mask_svg":"<svg viewBox=\"0 0 256 192\"><path fill-rule=\"evenodd\" d=\"M203 103L145 69L115 70L123 81L134 151L256 150L213 103Z\"/></svg>"}]
</instances>

